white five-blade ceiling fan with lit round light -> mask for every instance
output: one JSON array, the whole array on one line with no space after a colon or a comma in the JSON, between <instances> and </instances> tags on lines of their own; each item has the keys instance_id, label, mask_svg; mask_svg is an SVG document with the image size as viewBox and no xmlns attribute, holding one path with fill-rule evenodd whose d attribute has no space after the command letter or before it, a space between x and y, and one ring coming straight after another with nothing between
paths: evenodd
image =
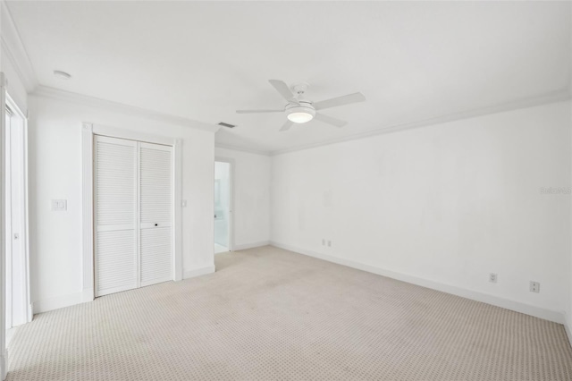
<instances>
[{"instance_id":1,"label":"white five-blade ceiling fan with lit round light","mask_svg":"<svg viewBox=\"0 0 572 381\"><path fill-rule=\"evenodd\" d=\"M294 123L307 123L312 119L320 122L332 124L336 127L343 127L347 122L332 116L318 113L325 108L349 105L351 103L363 102L366 97L362 93L353 93L343 97L332 97L320 102L312 102L304 96L307 89L306 82L298 82L292 86L292 90L282 80L268 80L276 91L288 101L282 110L237 110L238 114L259 114L259 113L284 113L288 120L280 131L289 130Z\"/></svg>"}]
</instances>

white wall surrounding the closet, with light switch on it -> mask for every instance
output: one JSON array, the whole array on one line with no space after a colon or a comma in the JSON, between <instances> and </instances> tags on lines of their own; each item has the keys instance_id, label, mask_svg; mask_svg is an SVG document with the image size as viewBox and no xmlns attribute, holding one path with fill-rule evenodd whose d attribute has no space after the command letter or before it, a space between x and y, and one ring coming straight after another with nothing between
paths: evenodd
<instances>
[{"instance_id":1,"label":"white wall surrounding the closet, with light switch on it","mask_svg":"<svg viewBox=\"0 0 572 381\"><path fill-rule=\"evenodd\" d=\"M49 97L29 97L31 298L36 312L78 302L82 290L83 122L182 139L183 271L212 267L214 132L161 123ZM67 199L67 211L50 210Z\"/></svg>"}]
</instances>

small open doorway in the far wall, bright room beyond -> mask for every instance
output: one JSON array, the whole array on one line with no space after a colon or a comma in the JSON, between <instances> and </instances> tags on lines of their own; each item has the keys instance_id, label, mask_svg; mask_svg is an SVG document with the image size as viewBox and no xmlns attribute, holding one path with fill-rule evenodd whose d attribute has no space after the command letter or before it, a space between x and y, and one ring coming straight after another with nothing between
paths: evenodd
<instances>
[{"instance_id":1,"label":"small open doorway in the far wall, bright room beyond","mask_svg":"<svg viewBox=\"0 0 572 381\"><path fill-rule=\"evenodd\" d=\"M214 253L232 250L232 163L214 162Z\"/></svg>"}]
</instances>

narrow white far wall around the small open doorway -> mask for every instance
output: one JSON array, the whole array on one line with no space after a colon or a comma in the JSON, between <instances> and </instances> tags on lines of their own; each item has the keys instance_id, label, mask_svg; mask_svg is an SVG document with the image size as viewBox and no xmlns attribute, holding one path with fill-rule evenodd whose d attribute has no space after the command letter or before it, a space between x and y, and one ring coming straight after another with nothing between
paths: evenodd
<instances>
[{"instance_id":1,"label":"narrow white far wall around the small open doorway","mask_svg":"<svg viewBox=\"0 0 572 381\"><path fill-rule=\"evenodd\" d=\"M234 161L234 250L270 240L270 157L215 148L217 158Z\"/></svg>"}]
</instances>

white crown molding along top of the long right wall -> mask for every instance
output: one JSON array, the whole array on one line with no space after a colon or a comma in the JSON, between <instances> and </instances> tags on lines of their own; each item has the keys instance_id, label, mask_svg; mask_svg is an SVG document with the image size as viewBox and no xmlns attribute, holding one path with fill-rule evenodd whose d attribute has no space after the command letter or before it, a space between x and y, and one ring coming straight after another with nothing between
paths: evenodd
<instances>
[{"instance_id":1,"label":"white crown molding along top of the long right wall","mask_svg":"<svg viewBox=\"0 0 572 381\"><path fill-rule=\"evenodd\" d=\"M484 116L484 115L488 115L488 114L498 114L498 113L503 113L503 112L507 112L507 111L517 110L520 108L542 106L542 105L547 105L547 104L551 104L551 103L569 100L571 98L572 98L572 90L570 89L570 87L567 86L565 89L552 91L550 93L546 93L546 94L543 94L543 95L537 96L537 97L521 98L521 99L517 99L515 101L506 102L506 103L502 103L502 104L495 105L495 106L475 108L472 110L467 110L467 111L464 111L461 113L456 113L456 114L435 116L433 118L424 119L424 120L416 121L416 122L394 124L394 125L391 125L388 127L383 127L383 128L376 129L373 131L361 132L361 133L357 133L357 134L342 137L342 138L336 138L336 139L321 141L319 143L306 144L306 145L302 145L302 146L298 146L298 147L294 147L294 148L278 149L275 151L271 151L270 156L287 154L290 152L301 151L304 149L329 146L331 144L341 143L343 141L366 139L366 138L376 136L376 135L383 135L386 133L397 132L397 131L412 130L415 128L430 126L430 125L434 125L434 124L448 123L448 122L454 122L454 121L458 121L458 120L462 120L462 119L475 118L477 116Z\"/></svg>"}]
</instances>

